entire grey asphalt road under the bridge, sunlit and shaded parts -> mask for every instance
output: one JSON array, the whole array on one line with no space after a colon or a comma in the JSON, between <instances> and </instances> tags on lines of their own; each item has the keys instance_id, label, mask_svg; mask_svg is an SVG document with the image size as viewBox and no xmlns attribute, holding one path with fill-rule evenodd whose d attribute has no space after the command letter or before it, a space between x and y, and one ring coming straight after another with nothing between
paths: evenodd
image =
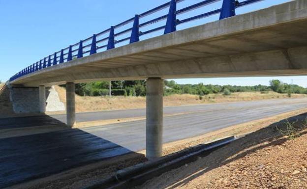
<instances>
[{"instance_id":1,"label":"entire grey asphalt road under the bridge, sunlit and shaded parts","mask_svg":"<svg viewBox=\"0 0 307 189\"><path fill-rule=\"evenodd\" d=\"M163 142L202 135L255 119L306 108L307 98L166 107ZM78 113L77 121L145 116L145 109ZM9 128L52 126L64 115L0 119ZM60 122L61 123L61 122ZM145 149L145 120L0 139L0 188ZM133 152L134 151L134 152Z\"/></svg>"}]
</instances>

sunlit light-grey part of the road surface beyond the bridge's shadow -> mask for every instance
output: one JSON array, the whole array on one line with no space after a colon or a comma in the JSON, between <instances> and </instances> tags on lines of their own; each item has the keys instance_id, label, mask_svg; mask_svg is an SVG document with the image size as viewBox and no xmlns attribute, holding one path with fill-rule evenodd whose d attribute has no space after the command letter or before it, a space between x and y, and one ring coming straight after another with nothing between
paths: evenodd
<instances>
[{"instance_id":1,"label":"sunlit light-grey part of the road surface beyond the bridge's shadow","mask_svg":"<svg viewBox=\"0 0 307 189\"><path fill-rule=\"evenodd\" d=\"M165 107L164 114L185 113L163 119L163 142L171 142L211 131L307 108L307 98L263 100ZM145 116L145 109L78 113L77 122ZM54 115L64 121L65 115ZM83 131L107 139L132 151L145 149L145 120L84 128Z\"/></svg>"}]
</instances>

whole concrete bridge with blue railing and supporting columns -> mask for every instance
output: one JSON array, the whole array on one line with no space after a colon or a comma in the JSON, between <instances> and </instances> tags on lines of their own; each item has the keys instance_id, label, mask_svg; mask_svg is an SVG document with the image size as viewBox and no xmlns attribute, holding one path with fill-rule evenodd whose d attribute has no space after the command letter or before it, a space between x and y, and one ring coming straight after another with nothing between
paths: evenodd
<instances>
[{"instance_id":1,"label":"whole concrete bridge with blue railing and supporting columns","mask_svg":"<svg viewBox=\"0 0 307 189\"><path fill-rule=\"evenodd\" d=\"M260 0L223 0L220 9L179 20L177 15L219 0L177 10L182 1L171 0L48 55L12 76L9 84L12 88L39 87L39 99L34 100L39 101L42 113L45 88L66 84L67 125L73 127L75 83L146 79L147 157L155 159L162 155L163 79L306 75L306 0L242 15L235 10ZM140 23L139 19L162 9L169 9L168 14ZM176 31L178 25L215 14L219 14L215 22ZM165 26L141 31L162 20ZM132 27L126 28L129 24ZM141 36L159 30L164 34L140 41ZM123 42L128 44L115 48Z\"/></svg>"}]
</instances>

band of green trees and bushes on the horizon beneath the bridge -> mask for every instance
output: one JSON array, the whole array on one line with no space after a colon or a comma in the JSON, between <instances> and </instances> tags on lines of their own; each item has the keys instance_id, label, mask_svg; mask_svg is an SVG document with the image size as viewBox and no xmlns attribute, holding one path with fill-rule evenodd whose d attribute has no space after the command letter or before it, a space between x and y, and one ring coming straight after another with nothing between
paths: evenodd
<instances>
[{"instance_id":1,"label":"band of green trees and bushes on the horizon beneath the bridge","mask_svg":"<svg viewBox=\"0 0 307 189\"><path fill-rule=\"evenodd\" d=\"M233 92L255 92L307 94L307 89L295 84L282 83L278 80L270 81L270 85L236 86L236 85L212 85L212 84L178 84L175 81L165 81L164 95L171 94L193 94L199 95L200 99L204 95L222 93L230 95ZM76 84L76 93L80 96L106 96L109 95L109 81L96 81L90 83ZM112 81L112 95L121 96L145 96L146 81Z\"/></svg>"}]
</instances>

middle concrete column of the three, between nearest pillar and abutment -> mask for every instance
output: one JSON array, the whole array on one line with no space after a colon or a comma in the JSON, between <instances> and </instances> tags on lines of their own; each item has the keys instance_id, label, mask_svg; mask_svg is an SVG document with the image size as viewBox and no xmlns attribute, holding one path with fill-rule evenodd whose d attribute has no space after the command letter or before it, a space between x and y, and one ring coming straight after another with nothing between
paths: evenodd
<instances>
[{"instance_id":1,"label":"middle concrete column of the three, between nearest pillar and abutment","mask_svg":"<svg viewBox=\"0 0 307 189\"><path fill-rule=\"evenodd\" d=\"M68 127L76 124L75 83L73 82L66 83L66 118Z\"/></svg>"}]
</instances>

